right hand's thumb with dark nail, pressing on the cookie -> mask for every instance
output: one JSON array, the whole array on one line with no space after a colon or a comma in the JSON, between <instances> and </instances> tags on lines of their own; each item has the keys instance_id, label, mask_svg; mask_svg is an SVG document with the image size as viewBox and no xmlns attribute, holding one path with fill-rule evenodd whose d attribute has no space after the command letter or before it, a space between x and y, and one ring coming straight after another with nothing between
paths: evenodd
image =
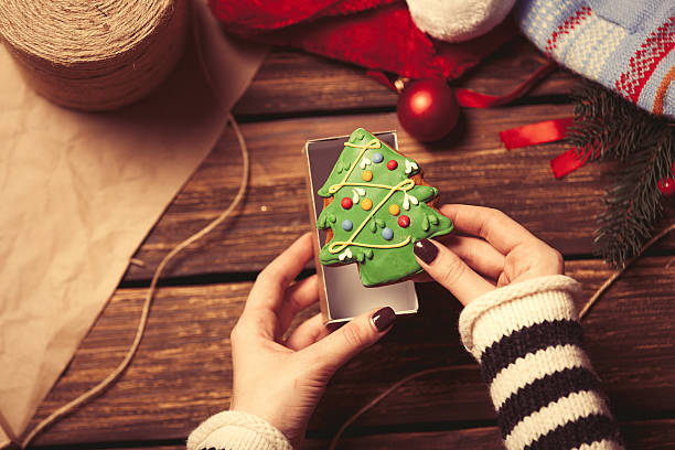
<instances>
[{"instance_id":1,"label":"right hand's thumb with dark nail, pressing on the cookie","mask_svg":"<svg viewBox=\"0 0 675 450\"><path fill-rule=\"evenodd\" d=\"M421 239L415 244L415 257L436 281L448 289L464 306L494 286L473 271L467 262L442 245Z\"/></svg>"}]
</instances>

